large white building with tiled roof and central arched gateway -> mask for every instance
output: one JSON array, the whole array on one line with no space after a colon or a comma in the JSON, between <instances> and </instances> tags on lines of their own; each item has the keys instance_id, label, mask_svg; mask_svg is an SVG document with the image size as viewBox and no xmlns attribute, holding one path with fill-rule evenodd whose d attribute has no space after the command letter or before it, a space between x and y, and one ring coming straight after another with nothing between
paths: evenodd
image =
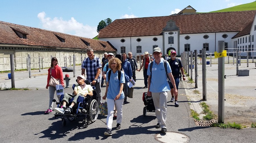
<instances>
[{"instance_id":1,"label":"large white building with tiled roof and central arched gateway","mask_svg":"<svg viewBox=\"0 0 256 143\"><path fill-rule=\"evenodd\" d=\"M218 41L224 40L228 51L250 51L254 47L256 10L203 14L170 15L146 18L116 19L100 30L99 40L110 42L117 53L133 55L152 53L160 47L163 54L205 48L218 51ZM242 53L246 55L247 53ZM255 54L254 54L255 55Z\"/></svg>"}]
</instances>

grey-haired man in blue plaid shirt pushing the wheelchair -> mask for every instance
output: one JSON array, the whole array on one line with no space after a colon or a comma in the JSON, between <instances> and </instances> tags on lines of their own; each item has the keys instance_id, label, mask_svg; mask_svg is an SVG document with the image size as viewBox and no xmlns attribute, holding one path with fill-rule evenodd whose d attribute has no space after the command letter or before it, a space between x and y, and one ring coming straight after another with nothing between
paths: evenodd
<instances>
[{"instance_id":1,"label":"grey-haired man in blue plaid shirt pushing the wheelchair","mask_svg":"<svg viewBox=\"0 0 256 143\"><path fill-rule=\"evenodd\" d=\"M89 80L93 86L95 86L95 91L98 96L98 103L101 104L101 89L100 89L100 69L102 68L100 58L93 55L93 49L87 48L86 53L87 58L83 60L81 75L84 76L86 69L86 80Z\"/></svg>"}]
</instances>

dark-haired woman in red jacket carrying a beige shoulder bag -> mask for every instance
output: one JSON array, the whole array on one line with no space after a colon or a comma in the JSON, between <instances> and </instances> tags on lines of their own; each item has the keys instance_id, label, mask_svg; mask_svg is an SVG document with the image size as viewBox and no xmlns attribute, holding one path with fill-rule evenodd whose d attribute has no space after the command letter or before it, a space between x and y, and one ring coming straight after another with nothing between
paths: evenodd
<instances>
[{"instance_id":1,"label":"dark-haired woman in red jacket carrying a beige shoulder bag","mask_svg":"<svg viewBox=\"0 0 256 143\"><path fill-rule=\"evenodd\" d=\"M51 75L50 75L50 70L51 70ZM56 90L56 87L54 86L49 86L49 81L50 81L50 77L53 76L55 79L59 79L59 84L61 84L64 87L64 79L63 79L63 74L62 74L62 69L61 67L58 66L58 60L56 57L53 57L51 59L51 68L48 69L48 77L47 77L47 85L46 85L46 89L49 88L49 109L47 111L45 111L45 113L51 113L52 112L52 99L54 97L54 93ZM57 98L60 98L60 95L57 95Z\"/></svg>"}]
</instances>

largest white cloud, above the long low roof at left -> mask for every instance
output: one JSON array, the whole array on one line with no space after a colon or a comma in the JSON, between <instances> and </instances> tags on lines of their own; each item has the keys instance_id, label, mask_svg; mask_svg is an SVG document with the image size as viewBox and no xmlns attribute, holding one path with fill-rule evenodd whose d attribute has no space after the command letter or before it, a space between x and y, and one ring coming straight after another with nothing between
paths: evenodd
<instances>
[{"instance_id":1,"label":"largest white cloud, above the long low roof at left","mask_svg":"<svg viewBox=\"0 0 256 143\"><path fill-rule=\"evenodd\" d=\"M42 26L46 30L56 31L65 34L71 34L86 38L93 38L98 35L97 27L90 25L83 25L79 23L75 18L71 17L69 20L63 20L63 18L49 18L46 17L45 12L40 12L37 17L40 19Z\"/></svg>"}]
</instances>

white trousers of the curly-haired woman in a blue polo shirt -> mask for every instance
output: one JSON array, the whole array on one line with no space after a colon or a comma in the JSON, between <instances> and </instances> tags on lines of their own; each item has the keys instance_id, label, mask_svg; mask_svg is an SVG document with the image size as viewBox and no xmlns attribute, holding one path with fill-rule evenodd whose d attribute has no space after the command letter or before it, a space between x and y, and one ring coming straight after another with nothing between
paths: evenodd
<instances>
[{"instance_id":1,"label":"white trousers of the curly-haired woman in a blue polo shirt","mask_svg":"<svg viewBox=\"0 0 256 143\"><path fill-rule=\"evenodd\" d=\"M107 116L107 128L112 130L112 123L113 123L113 113L114 113L114 105L117 110L117 117L116 117L116 123L121 124L122 117L123 117L123 100L113 100L108 99L108 116Z\"/></svg>"}]
</instances>

